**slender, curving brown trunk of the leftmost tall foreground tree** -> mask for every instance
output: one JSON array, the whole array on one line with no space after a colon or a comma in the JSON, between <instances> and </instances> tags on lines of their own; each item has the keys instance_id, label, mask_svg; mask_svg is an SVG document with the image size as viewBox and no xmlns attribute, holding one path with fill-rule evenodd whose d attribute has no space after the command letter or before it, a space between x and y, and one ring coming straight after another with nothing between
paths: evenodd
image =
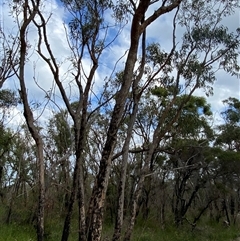
<instances>
[{"instance_id":1,"label":"slender, curving brown trunk of the leftmost tall foreground tree","mask_svg":"<svg viewBox=\"0 0 240 241\"><path fill-rule=\"evenodd\" d=\"M33 2L33 9L29 11L28 1L26 0L23 5L23 23L20 27L20 61L19 61L19 74L17 74L20 83L20 94L24 108L24 117L27 122L28 129L35 141L37 149L37 166L38 166L38 215L37 215L37 240L44 240L44 202L45 202L45 180L44 180L44 157L43 157L43 140L39 133L37 126L35 126L32 110L29 106L26 80L25 80L25 62L27 54L27 28L34 20L39 7L39 1Z\"/></svg>"}]
</instances>

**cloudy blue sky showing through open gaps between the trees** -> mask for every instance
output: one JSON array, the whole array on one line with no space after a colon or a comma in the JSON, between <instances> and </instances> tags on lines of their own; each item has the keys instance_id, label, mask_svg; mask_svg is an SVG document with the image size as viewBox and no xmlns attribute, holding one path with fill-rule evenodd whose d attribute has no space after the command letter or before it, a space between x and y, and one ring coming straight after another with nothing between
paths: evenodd
<instances>
[{"instance_id":1,"label":"cloudy blue sky showing through open gaps between the trees","mask_svg":"<svg viewBox=\"0 0 240 241\"><path fill-rule=\"evenodd\" d=\"M62 7L59 6L59 1L48 0L45 1L45 8L44 12L47 15L52 13L51 18L48 22L48 33L49 33L49 40L52 47L52 50L61 63L61 73L62 79L65 83L66 89L68 89L69 97L74 100L77 96L77 91L74 90L74 86L69 84L69 80L71 80L72 76L69 74L69 61L67 58L69 57L69 49L67 46L67 40L65 35L65 28L64 22L67 20L67 14ZM1 5L1 23L4 23L5 31L15 31L16 28L14 27L15 23L13 19L9 16L9 9L8 5ZM150 8L149 13L154 11L154 7ZM161 17L158 21L153 23L147 30L147 37L148 42L156 42L158 41L160 45L169 50L172 46L172 18L174 13L170 13ZM106 16L109 21L111 21L110 16ZM223 23L228 26L230 31L234 31L237 27L240 26L240 17L239 12L236 14L226 18ZM65 25L67 28L67 25ZM100 66L95 76L95 91L99 91L103 85L103 79L105 77L111 75L113 66L115 65L116 61L121 57L124 56L126 50L129 48L129 29L130 26L126 25L125 28L121 31L121 34L118 36L117 40L114 42L111 47L107 48L103 58L100 60ZM112 33L115 32L111 30ZM111 33L111 32L110 32ZM180 36L183 34L183 29L178 28L177 35ZM109 36L111 37L111 36ZM37 53L34 50L34 46L36 46L37 40L37 32L34 28L30 28L28 33L28 40L31 43L31 50L29 54L29 61L26 65L26 78L29 79L27 82L27 88L29 92L29 98L32 101L42 102L45 103L46 100L42 89L45 91L49 91L54 88L53 78L51 73L46 66L46 64L38 57ZM117 70L120 70L124 66L124 57L118 62ZM83 62L84 69L89 71L90 62L86 58ZM217 81L214 84L214 95L209 97L207 100L212 105L213 113L215 114L216 122L218 122L219 113L223 108L222 100L228 97L236 97L240 98L240 84L239 79L235 76L230 76L223 71L219 71L217 74ZM34 77L34 78L33 78ZM34 81L35 80L35 81ZM39 88L39 86L41 88ZM8 80L4 88L18 88L18 83L14 79ZM204 93L202 90L197 90L196 95L203 96ZM56 90L55 98L60 101L59 92ZM60 102L58 102L60 103ZM15 112L17 113L19 109L16 109ZM47 114L49 111L49 114ZM50 115L50 108L49 110L46 109L46 119ZM23 120L22 117L19 116L19 121Z\"/></svg>"}]
</instances>

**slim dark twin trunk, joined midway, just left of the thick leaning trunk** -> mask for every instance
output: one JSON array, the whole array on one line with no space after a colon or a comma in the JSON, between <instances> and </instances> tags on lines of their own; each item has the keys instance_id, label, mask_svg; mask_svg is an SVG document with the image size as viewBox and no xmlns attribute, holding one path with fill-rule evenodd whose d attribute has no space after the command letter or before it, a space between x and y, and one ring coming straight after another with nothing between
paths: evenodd
<instances>
[{"instance_id":1,"label":"slim dark twin trunk, joined midway, just left of the thick leaning trunk","mask_svg":"<svg viewBox=\"0 0 240 241\"><path fill-rule=\"evenodd\" d=\"M90 71L90 75L88 77L88 81L85 87L85 91L81 90L82 99L80 100L79 110L81 112L81 116L75 115L72 116L74 119L74 130L75 130L75 141L76 141L76 164L74 168L73 174L73 184L72 191L70 194L69 207L68 212L64 222L64 228L62 233L62 241L68 240L69 232L70 232L70 223L73 212L73 205L75 202L75 197L78 195L78 209L79 209L79 218L78 218L78 239L81 241L86 240L86 215L85 215L85 191L84 191L84 178L83 178L83 151L85 148L85 140L87 135L87 107L88 107L88 97L90 87L93 81L94 73L97 70L98 62L95 59L94 65ZM58 86L64 92L61 83L58 82ZM66 101L65 101L66 103ZM81 118L81 122L79 123L79 119Z\"/></svg>"}]
</instances>

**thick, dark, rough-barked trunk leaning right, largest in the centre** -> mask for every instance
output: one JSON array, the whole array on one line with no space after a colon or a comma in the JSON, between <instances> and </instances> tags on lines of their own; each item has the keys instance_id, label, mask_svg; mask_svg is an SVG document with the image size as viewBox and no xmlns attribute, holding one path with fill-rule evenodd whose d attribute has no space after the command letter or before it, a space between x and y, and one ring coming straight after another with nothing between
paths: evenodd
<instances>
[{"instance_id":1,"label":"thick, dark, rough-barked trunk leaning right, largest in the centre","mask_svg":"<svg viewBox=\"0 0 240 241\"><path fill-rule=\"evenodd\" d=\"M147 3L146 3L147 2ZM100 161L99 173L94 184L87 219L88 241L100 241L102 224L103 224L103 208L108 187L108 179L111 167L112 153L115 146L119 123L122 119L122 114L125 107L125 102L128 97L129 89L133 80L133 71L137 60L137 50L139 38L141 36L140 21L147 10L149 1L139 4L138 10L133 17L131 28L131 46L129 49L123 83L121 89L116 96L116 104L114 106L110 126L107 133L107 140L102 152Z\"/></svg>"}]
</instances>

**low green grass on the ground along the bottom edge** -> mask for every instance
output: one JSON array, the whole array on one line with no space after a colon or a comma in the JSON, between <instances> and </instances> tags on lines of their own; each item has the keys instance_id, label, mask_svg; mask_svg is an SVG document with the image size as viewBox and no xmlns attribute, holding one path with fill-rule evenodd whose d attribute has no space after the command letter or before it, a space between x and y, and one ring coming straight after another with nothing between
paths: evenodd
<instances>
[{"instance_id":1,"label":"low green grass on the ground along the bottom edge","mask_svg":"<svg viewBox=\"0 0 240 241\"><path fill-rule=\"evenodd\" d=\"M62 225L62 224L61 224ZM58 220L46 224L46 241L61 239L62 227ZM77 240L77 228L73 227L69 241ZM103 237L111 237L112 227L104 227ZM0 241L35 241L36 231L27 225L1 225ZM223 227L221 224L206 224L196 228L193 232L189 227L176 229L167 226L162 229L156 222L138 222L134 229L132 241L232 241L240 237L237 227ZM111 240L111 239L107 239Z\"/></svg>"}]
</instances>

